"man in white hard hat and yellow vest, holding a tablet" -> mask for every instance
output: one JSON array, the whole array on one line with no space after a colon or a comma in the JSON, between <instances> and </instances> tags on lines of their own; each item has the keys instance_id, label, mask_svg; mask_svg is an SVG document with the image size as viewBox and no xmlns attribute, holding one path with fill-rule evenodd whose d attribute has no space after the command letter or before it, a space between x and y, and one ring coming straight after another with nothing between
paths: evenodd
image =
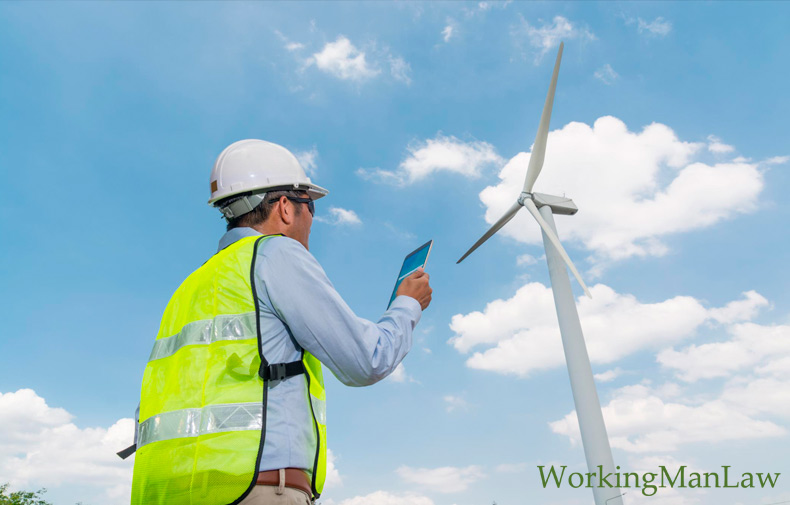
<instances>
[{"instance_id":1,"label":"man in white hard hat and yellow vest, holding a tablet","mask_svg":"<svg viewBox=\"0 0 790 505\"><path fill-rule=\"evenodd\" d=\"M354 315L309 253L327 191L287 149L227 147L209 203L219 251L178 288L143 377L133 504L305 504L326 474L321 364L367 386L398 366L431 302L405 279L378 323Z\"/></svg>"}]
</instances>

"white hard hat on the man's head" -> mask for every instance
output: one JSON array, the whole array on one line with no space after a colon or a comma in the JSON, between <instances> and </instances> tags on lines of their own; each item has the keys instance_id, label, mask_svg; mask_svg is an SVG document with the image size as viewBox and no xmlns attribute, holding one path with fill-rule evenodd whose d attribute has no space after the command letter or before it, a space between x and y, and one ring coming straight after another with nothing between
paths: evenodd
<instances>
[{"instance_id":1,"label":"white hard hat on the man's head","mask_svg":"<svg viewBox=\"0 0 790 505\"><path fill-rule=\"evenodd\" d=\"M220 209L229 219L254 209L265 197L262 190L306 191L313 200L329 193L310 182L291 151L265 140L240 140L226 147L214 163L210 180L209 205L239 193L254 193Z\"/></svg>"}]
</instances>

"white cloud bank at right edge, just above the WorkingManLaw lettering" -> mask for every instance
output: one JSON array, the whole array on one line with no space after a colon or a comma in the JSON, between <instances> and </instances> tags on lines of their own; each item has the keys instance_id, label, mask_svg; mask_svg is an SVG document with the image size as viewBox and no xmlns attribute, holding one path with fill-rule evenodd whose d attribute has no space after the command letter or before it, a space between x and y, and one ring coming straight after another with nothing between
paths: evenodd
<instances>
[{"instance_id":1,"label":"white cloud bank at right edge, just above the WorkingManLaw lettering","mask_svg":"<svg viewBox=\"0 0 790 505\"><path fill-rule=\"evenodd\" d=\"M765 305L754 292L745 295L745 302ZM667 452L688 443L786 435L786 428L771 418L790 419L790 325L737 322L739 317L755 316L754 312L732 313L737 317L724 319L730 324L726 328L729 340L658 355L682 380L720 378L726 380L724 386L694 396L676 383L657 388L645 383L616 390L603 408L613 447L638 453ZM550 426L574 442L580 440L575 412Z\"/></svg>"}]
</instances>

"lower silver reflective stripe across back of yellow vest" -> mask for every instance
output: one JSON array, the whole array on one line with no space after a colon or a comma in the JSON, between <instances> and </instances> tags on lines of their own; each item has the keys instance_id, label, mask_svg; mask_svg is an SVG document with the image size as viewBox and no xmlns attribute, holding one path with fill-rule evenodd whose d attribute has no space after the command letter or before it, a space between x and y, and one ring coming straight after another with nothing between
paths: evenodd
<instances>
[{"instance_id":1,"label":"lower silver reflective stripe across back of yellow vest","mask_svg":"<svg viewBox=\"0 0 790 505\"><path fill-rule=\"evenodd\" d=\"M262 429L261 403L207 405L202 409L174 410L149 417L140 423L137 447L174 438Z\"/></svg>"}]
</instances>

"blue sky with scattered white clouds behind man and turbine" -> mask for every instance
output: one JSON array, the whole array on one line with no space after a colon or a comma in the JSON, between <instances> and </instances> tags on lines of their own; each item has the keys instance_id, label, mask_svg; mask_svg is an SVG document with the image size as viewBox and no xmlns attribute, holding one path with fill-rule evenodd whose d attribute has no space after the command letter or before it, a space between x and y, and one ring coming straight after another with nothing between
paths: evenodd
<instances>
[{"instance_id":1,"label":"blue sky with scattered white clouds behind man and turbine","mask_svg":"<svg viewBox=\"0 0 790 505\"><path fill-rule=\"evenodd\" d=\"M785 3L0 4L0 482L125 503L164 306L223 232L231 142L296 152L330 195L310 249L362 317L435 241L395 376L328 378L334 505L591 502L540 236L511 204L560 41L537 191L593 292L579 311L617 464L783 473L790 500ZM581 290L574 283L576 294ZM627 503L643 503L631 490Z\"/></svg>"}]
</instances>

